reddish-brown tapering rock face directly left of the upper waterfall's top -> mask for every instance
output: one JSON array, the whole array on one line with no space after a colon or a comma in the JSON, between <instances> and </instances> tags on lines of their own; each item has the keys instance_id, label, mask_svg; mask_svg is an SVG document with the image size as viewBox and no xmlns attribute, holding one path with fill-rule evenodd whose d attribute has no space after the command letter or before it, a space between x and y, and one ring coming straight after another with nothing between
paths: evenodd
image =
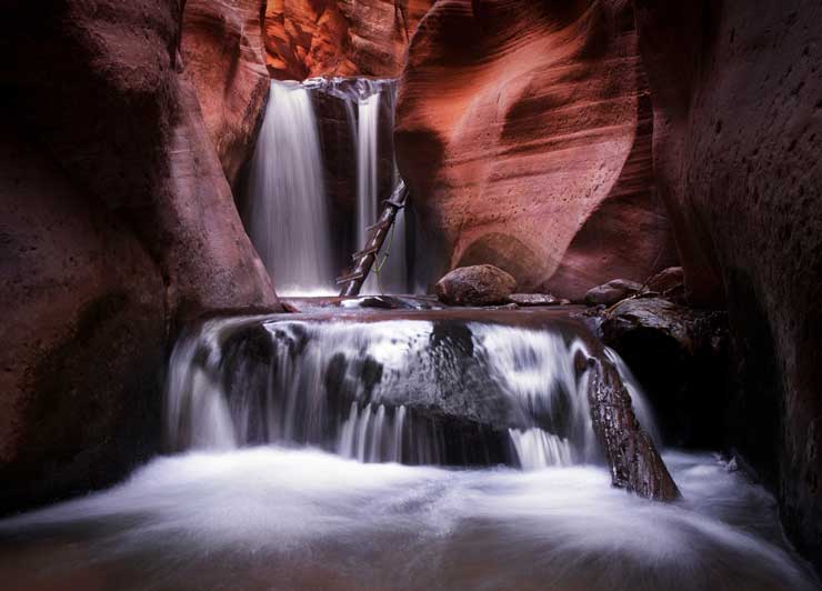
<instances>
[{"instance_id":1,"label":"reddish-brown tapering rock face directly left of the upper waterfall's top","mask_svg":"<svg viewBox=\"0 0 822 591\"><path fill-rule=\"evenodd\" d=\"M183 12L186 73L232 184L253 148L269 91L264 11L265 0L187 0Z\"/></svg>"}]
</instances>

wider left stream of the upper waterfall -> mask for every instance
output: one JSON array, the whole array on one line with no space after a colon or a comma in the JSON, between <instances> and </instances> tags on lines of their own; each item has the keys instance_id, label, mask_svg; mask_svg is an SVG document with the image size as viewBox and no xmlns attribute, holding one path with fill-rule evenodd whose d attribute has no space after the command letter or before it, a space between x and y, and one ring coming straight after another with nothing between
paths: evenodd
<instances>
[{"instance_id":1,"label":"wider left stream of the upper waterfall","mask_svg":"<svg viewBox=\"0 0 822 591\"><path fill-rule=\"evenodd\" d=\"M251 159L247 227L280 294L332 293L334 268L317 117L309 90L271 82Z\"/></svg>"}]
</instances>

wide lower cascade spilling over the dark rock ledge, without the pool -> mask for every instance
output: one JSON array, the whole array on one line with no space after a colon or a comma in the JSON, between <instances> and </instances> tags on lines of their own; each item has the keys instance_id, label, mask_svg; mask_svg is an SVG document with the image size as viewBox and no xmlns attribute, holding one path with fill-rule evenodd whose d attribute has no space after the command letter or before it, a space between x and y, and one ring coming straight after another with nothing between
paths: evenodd
<instances>
[{"instance_id":1,"label":"wide lower cascade spilling over the dark rock ledge, without the pool","mask_svg":"<svg viewBox=\"0 0 822 591\"><path fill-rule=\"evenodd\" d=\"M598 461L587 370L575 363L589 354L584 330L441 314L209 320L171 358L169 441L297 442L362 462L529 470ZM643 408L635 384L631 393ZM640 418L653 429L649 413Z\"/></svg>"}]
</instances>

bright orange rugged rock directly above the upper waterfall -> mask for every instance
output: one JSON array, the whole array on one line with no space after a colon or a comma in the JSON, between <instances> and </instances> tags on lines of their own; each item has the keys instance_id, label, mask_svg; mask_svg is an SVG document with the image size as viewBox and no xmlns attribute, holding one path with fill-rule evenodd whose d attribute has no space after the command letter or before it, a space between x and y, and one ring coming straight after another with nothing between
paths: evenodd
<instances>
[{"instance_id":1,"label":"bright orange rugged rock directly above the upper waterfall","mask_svg":"<svg viewBox=\"0 0 822 591\"><path fill-rule=\"evenodd\" d=\"M409 40L433 0L269 0L271 77L399 76Z\"/></svg>"}]
</instances>

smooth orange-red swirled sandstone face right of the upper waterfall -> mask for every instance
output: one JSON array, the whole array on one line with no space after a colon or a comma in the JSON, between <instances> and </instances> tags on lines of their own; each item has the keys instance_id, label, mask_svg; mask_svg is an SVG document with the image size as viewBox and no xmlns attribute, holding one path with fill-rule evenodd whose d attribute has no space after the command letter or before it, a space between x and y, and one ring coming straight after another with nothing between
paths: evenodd
<instances>
[{"instance_id":1,"label":"smooth orange-red swirled sandstone face right of the upper waterfall","mask_svg":"<svg viewBox=\"0 0 822 591\"><path fill-rule=\"evenodd\" d=\"M432 276L491 263L581 300L673 262L633 20L598 0L443 0L425 16L395 144Z\"/></svg>"}]
</instances>

